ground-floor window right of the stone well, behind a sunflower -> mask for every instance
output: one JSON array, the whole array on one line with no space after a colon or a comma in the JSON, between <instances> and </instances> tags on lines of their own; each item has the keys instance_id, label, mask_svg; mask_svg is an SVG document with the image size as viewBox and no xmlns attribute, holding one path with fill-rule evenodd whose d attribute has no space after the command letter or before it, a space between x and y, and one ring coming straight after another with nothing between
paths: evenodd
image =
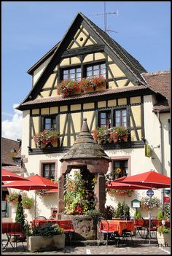
<instances>
[{"instance_id":1,"label":"ground-floor window right of the stone well, behind a sunflower","mask_svg":"<svg viewBox=\"0 0 172 256\"><path fill-rule=\"evenodd\" d=\"M114 179L128 176L128 160L112 161L112 177Z\"/></svg>"}]
</instances>

